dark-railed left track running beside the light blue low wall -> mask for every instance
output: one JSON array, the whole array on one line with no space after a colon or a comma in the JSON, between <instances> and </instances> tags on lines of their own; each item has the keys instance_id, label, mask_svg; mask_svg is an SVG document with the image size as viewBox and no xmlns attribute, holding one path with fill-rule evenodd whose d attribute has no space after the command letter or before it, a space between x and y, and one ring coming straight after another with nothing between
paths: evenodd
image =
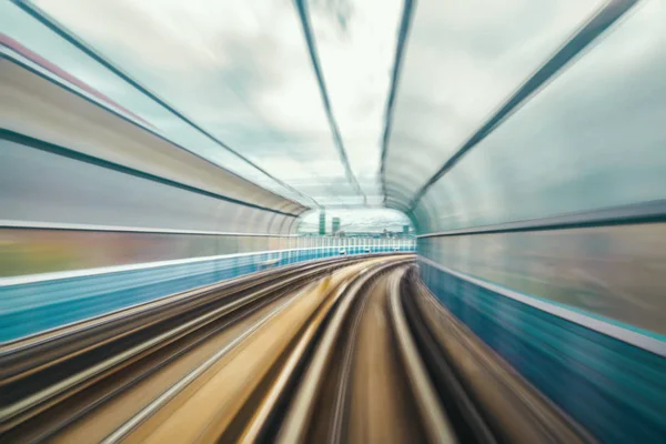
<instances>
[{"instance_id":1,"label":"dark-railed left track running beside the light blue low wall","mask_svg":"<svg viewBox=\"0 0 666 444\"><path fill-rule=\"evenodd\" d=\"M211 337L233 337L239 327L232 326L251 323L249 316L275 300L349 264L325 261L264 272L3 344L4 441L50 438Z\"/></svg>"}]
</instances>

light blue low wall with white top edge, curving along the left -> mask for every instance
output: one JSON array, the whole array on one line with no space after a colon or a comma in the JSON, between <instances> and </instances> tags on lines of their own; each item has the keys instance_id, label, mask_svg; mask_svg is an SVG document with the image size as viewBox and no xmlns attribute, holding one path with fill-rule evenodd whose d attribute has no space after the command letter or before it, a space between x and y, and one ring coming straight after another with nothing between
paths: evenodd
<instances>
[{"instance_id":1,"label":"light blue low wall with white top edge, curving along the left","mask_svg":"<svg viewBox=\"0 0 666 444\"><path fill-rule=\"evenodd\" d=\"M0 343L269 269L414 251L376 241L285 238L295 248L0 278Z\"/></svg>"}]
</instances>

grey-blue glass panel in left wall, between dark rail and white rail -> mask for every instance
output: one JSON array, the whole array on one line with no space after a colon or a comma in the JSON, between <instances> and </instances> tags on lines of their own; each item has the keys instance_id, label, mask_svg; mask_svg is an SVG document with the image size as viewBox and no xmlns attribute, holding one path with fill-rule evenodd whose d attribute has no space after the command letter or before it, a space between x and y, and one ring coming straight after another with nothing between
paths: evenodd
<instances>
[{"instance_id":1,"label":"grey-blue glass panel in left wall, between dark rail and white rail","mask_svg":"<svg viewBox=\"0 0 666 444\"><path fill-rule=\"evenodd\" d=\"M263 234L273 218L6 140L0 154L0 190L11 190L0 193L4 220Z\"/></svg>"}]
</instances>

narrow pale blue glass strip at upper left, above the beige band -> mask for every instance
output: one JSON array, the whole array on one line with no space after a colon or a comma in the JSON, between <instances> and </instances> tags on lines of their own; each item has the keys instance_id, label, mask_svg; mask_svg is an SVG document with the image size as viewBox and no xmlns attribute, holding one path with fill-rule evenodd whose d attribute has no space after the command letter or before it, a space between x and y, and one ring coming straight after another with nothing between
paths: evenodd
<instances>
[{"instance_id":1,"label":"narrow pale blue glass strip at upper left, above the beige band","mask_svg":"<svg viewBox=\"0 0 666 444\"><path fill-rule=\"evenodd\" d=\"M85 16L85 11L93 13L94 11L92 10L95 10L95 8L104 9L108 7L109 9L113 9L113 4L117 4L114 2L80 3L74 6L73 2L53 2L44 6L62 10L65 13L73 13L78 17L78 20L89 20L83 23L89 31L98 30L97 32L102 32L103 27L101 27L102 21L99 20L100 17L104 17L112 22L115 22L114 20L118 19L115 14L107 10L98 11L99 16ZM41 3L39 4L41 6ZM115 23L118 24L118 22ZM16 4L0 2L0 29L2 30L2 33L0 33L0 43L4 46L0 46L0 48L2 48L3 52L10 53L29 65L38 68L40 72L46 72L50 77L67 81L93 100L119 110L140 124L164 134L171 141L261 186L280 195L311 204L309 200L282 186L254 167L240 160L235 154L226 151L194 130L167 109L143 95L85 56L82 51L49 30L46 26L23 12ZM140 37L134 42L144 40L143 37ZM121 41L122 39L117 39L115 43ZM134 48L134 42L129 48ZM118 51L132 54L132 51L129 51L128 47L123 44L118 47ZM152 54L150 54L142 60L152 63L159 60L157 56L153 59ZM178 77L175 80L180 81Z\"/></svg>"}]
</instances>

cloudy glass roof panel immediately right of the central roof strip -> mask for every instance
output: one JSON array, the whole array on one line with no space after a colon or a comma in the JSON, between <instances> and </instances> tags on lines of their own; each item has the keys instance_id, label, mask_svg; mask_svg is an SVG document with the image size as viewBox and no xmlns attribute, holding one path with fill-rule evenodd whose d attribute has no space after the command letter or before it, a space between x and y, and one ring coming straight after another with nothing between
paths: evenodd
<instances>
[{"instance_id":1,"label":"cloudy glass roof panel immediately right of the central roof strip","mask_svg":"<svg viewBox=\"0 0 666 444\"><path fill-rule=\"evenodd\" d=\"M413 195L599 4L418 1L400 78L389 180Z\"/></svg>"}]
</instances>

